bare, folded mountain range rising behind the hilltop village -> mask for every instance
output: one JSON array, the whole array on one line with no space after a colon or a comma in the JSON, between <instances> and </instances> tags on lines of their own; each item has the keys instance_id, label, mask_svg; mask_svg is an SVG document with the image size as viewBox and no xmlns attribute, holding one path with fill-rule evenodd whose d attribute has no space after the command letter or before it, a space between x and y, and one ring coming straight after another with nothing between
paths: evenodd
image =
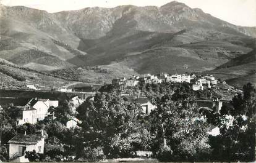
<instances>
[{"instance_id":1,"label":"bare, folded mountain range rising behind the hilltop village","mask_svg":"<svg viewBox=\"0 0 256 163\"><path fill-rule=\"evenodd\" d=\"M1 6L0 36L1 62L54 75L72 70L86 79L96 66L109 76L206 72L232 84L255 83L256 27L176 1L53 14Z\"/></svg>"}]
</instances>

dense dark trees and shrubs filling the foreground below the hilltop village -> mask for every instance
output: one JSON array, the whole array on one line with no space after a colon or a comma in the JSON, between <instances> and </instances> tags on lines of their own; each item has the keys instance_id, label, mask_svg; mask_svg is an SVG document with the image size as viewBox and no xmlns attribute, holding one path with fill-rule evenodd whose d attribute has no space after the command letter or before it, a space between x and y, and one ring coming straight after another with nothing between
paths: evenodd
<instances>
[{"instance_id":1,"label":"dense dark trees and shrubs filling the foreground below the hilltop village","mask_svg":"<svg viewBox=\"0 0 256 163\"><path fill-rule=\"evenodd\" d=\"M15 132L44 129L45 154L28 152L25 157L30 161L99 161L136 157L135 151L152 151L151 157L159 161L253 161L256 91L251 84L243 90L231 101L233 107L223 107L220 113L199 109L189 84L170 83L126 89L132 97L122 96L119 87L104 85L75 112L68 101L61 101L35 125L15 126L19 109L2 106L2 121L11 124L4 126L2 142L7 143ZM149 115L135 98L140 91L157 106ZM72 116L81 122L67 129ZM228 116L234 118L232 125L227 124ZM220 135L208 135L211 125L220 128ZM8 159L4 146L0 154L2 161Z\"/></svg>"}]
</instances>

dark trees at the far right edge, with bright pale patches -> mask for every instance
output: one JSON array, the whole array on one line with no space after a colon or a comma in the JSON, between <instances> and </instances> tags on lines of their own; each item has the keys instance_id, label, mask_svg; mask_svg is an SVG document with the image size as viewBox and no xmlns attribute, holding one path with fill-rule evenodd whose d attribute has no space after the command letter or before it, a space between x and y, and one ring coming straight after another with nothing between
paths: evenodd
<instances>
[{"instance_id":1,"label":"dark trees at the far right edge, with bright pale patches","mask_svg":"<svg viewBox=\"0 0 256 163\"><path fill-rule=\"evenodd\" d=\"M255 160L255 94L254 87L248 83L243 87L243 94L231 101L233 107L223 106L220 114L207 114L220 128L218 137L210 137L213 158L218 161Z\"/></svg>"}]
</instances>

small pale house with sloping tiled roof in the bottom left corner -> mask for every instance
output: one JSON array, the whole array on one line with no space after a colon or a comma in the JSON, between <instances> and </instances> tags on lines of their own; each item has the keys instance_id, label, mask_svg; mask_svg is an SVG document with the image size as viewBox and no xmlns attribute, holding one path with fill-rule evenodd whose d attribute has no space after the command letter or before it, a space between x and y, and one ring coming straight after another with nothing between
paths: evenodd
<instances>
[{"instance_id":1,"label":"small pale house with sloping tiled roof in the bottom left corner","mask_svg":"<svg viewBox=\"0 0 256 163\"><path fill-rule=\"evenodd\" d=\"M35 150L36 153L43 154L45 137L43 136L43 131L33 135L17 134L8 143L10 161L28 162L28 159L24 157L25 152Z\"/></svg>"}]
</instances>

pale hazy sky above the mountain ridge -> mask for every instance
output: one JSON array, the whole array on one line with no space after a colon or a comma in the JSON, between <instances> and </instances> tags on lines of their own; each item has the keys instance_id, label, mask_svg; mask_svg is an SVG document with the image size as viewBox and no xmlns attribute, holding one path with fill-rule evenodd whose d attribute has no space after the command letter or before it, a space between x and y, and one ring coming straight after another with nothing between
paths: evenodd
<instances>
[{"instance_id":1,"label":"pale hazy sky above the mountain ridge","mask_svg":"<svg viewBox=\"0 0 256 163\"><path fill-rule=\"evenodd\" d=\"M6 6L27 6L35 9L59 12L85 7L162 6L172 0L0 0ZM192 8L200 8L229 23L256 26L256 0L176 0Z\"/></svg>"}]
</instances>

